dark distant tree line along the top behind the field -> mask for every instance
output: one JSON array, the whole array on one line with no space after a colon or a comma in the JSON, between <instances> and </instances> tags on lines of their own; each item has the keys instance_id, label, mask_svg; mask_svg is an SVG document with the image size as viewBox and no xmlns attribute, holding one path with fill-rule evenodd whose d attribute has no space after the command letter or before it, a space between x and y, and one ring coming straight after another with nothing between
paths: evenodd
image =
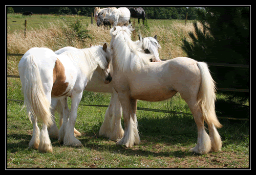
<instances>
[{"instance_id":1,"label":"dark distant tree line along the top behind the field","mask_svg":"<svg viewBox=\"0 0 256 175\"><path fill-rule=\"evenodd\" d=\"M79 14L91 16L95 7L8 7L8 13L23 13L31 11L34 14ZM197 7L143 7L149 19L196 19ZM203 10L203 9L202 9Z\"/></svg>"}]
</instances>

